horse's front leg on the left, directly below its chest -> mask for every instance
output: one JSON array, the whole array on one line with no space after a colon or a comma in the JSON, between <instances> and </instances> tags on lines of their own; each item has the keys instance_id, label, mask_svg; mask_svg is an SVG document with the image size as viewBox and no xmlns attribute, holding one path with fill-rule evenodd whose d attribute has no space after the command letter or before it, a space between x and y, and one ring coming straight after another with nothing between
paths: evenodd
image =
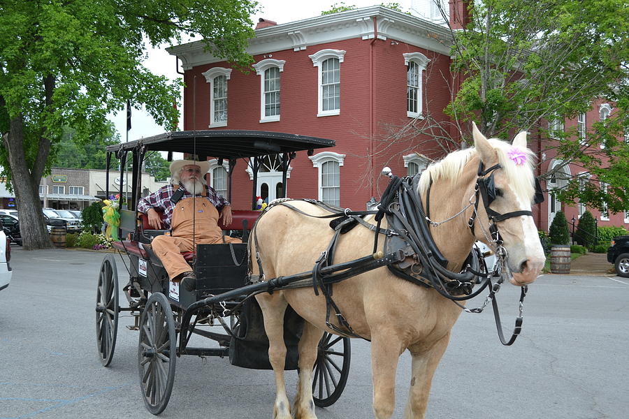
<instances>
[{"instance_id":1,"label":"horse's front leg on the left, directly below its chest","mask_svg":"<svg viewBox=\"0 0 629 419\"><path fill-rule=\"evenodd\" d=\"M376 419L389 419L396 406L396 370L402 342L391 332L373 332L371 338L373 413Z\"/></svg>"}]
</instances>

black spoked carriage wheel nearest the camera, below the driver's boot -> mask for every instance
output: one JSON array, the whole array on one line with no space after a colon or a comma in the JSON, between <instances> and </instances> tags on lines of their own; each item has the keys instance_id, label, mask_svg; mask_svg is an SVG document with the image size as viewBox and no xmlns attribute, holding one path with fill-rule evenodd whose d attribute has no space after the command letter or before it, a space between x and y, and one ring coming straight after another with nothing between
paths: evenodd
<instances>
[{"instance_id":1,"label":"black spoked carriage wheel nearest the camera, below the driver's boot","mask_svg":"<svg viewBox=\"0 0 629 419\"><path fill-rule=\"evenodd\" d=\"M152 294L140 318L138 367L146 409L158 415L168 404L175 383L177 332L171 304L162 293Z\"/></svg>"}]
</instances>

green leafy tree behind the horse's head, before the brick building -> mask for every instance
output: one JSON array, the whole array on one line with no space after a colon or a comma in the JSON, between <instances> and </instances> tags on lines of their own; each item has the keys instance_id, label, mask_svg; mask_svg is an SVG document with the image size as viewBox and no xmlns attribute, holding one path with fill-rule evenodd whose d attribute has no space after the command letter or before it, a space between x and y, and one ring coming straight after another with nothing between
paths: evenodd
<instances>
[{"instance_id":1,"label":"green leafy tree behind the horse's head, before the brick building","mask_svg":"<svg viewBox=\"0 0 629 419\"><path fill-rule=\"evenodd\" d=\"M579 198L599 209L607 203L610 212L629 208L629 149L622 140L629 127L626 1L466 3L469 24L461 30L451 28L451 74L433 71L431 64L426 69L428 86L431 78L450 77L452 99L447 114L451 120L442 122L442 109L428 102L421 119L403 128L392 127L391 139L399 144L403 134L409 140L408 149L426 143L426 149L435 150L432 157L439 157L461 147L472 120L492 137L512 138L510 132L521 130L540 133L540 154L556 149L564 164L583 166L593 179L611 185L605 193L598 182L579 189L577 179L568 179L570 186L558 193L561 200ZM442 15L447 10L442 9ZM454 17L461 20L459 15ZM587 142L579 141L575 128L549 129L548 121L574 119L590 109L595 98L616 105L605 124L595 124L588 132ZM383 147L391 143L386 141ZM601 149L600 143L607 147Z\"/></svg>"}]
</instances>

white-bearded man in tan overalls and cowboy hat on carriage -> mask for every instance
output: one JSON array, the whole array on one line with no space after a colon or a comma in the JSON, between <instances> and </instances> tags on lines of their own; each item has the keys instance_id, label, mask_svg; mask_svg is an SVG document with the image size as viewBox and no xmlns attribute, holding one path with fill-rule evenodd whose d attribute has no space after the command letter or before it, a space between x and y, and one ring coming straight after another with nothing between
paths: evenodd
<instances>
[{"instance_id":1,"label":"white-bearded man in tan overalls and cowboy hat on carriage","mask_svg":"<svg viewBox=\"0 0 629 419\"><path fill-rule=\"evenodd\" d=\"M231 223L231 206L205 182L209 169L209 161L173 161L171 183L138 203L138 210L147 215L152 228L171 230L171 235L159 235L151 242L171 281L194 280L181 252L194 251L196 244L241 242L224 236L218 226L219 221Z\"/></svg>"}]
</instances>

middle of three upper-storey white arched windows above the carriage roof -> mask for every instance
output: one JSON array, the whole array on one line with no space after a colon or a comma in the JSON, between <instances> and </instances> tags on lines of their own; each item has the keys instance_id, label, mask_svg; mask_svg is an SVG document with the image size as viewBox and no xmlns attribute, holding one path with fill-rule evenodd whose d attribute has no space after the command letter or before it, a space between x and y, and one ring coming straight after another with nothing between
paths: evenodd
<instances>
[{"instance_id":1,"label":"middle of three upper-storey white arched windows above the carriage roof","mask_svg":"<svg viewBox=\"0 0 629 419\"><path fill-rule=\"evenodd\" d=\"M263 59L253 65L261 76L260 122L280 120L280 73L284 71L284 60Z\"/></svg>"}]
</instances>

